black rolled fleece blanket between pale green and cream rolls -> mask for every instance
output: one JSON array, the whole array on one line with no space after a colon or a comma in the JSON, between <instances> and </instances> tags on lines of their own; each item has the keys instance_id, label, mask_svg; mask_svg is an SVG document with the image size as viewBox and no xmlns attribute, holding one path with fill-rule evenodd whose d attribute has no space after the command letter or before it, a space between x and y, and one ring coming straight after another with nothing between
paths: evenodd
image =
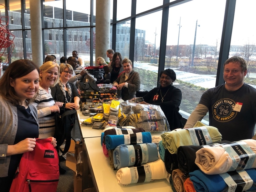
<instances>
[{"instance_id":1,"label":"black rolled fleece blanket between pale green and cream rolls","mask_svg":"<svg viewBox=\"0 0 256 192\"><path fill-rule=\"evenodd\" d=\"M230 141L220 141L218 143L231 143ZM215 143L215 144L218 144ZM211 145L215 145L211 144ZM196 151L204 148L203 146L180 146L177 152L177 160L179 169L186 175L192 171L198 170L199 167L195 164Z\"/></svg>"}]
</instances>

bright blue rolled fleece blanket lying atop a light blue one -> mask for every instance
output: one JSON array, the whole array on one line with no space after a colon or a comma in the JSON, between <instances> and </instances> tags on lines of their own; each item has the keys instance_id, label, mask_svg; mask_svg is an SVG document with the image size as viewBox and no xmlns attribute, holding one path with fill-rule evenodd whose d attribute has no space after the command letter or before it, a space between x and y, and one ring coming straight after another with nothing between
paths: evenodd
<instances>
[{"instance_id":1,"label":"bright blue rolled fleece blanket lying atop a light blue one","mask_svg":"<svg viewBox=\"0 0 256 192\"><path fill-rule=\"evenodd\" d=\"M152 138L150 132L138 132L127 135L107 135L105 136L105 144L107 150L115 149L121 144L135 145L137 143L151 143Z\"/></svg>"}]
</instances>

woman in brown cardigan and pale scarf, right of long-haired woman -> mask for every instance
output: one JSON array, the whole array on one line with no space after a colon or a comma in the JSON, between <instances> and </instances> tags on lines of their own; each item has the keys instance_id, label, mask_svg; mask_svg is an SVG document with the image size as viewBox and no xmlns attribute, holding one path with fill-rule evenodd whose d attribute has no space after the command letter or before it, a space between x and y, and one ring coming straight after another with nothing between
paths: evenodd
<instances>
[{"instance_id":1,"label":"woman in brown cardigan and pale scarf, right of long-haired woman","mask_svg":"<svg viewBox=\"0 0 256 192\"><path fill-rule=\"evenodd\" d=\"M120 74L113 84L117 87L118 95L126 101L134 98L136 91L140 89L140 75L132 69L131 60L128 58L122 60L122 65L125 73Z\"/></svg>"}]
</instances>

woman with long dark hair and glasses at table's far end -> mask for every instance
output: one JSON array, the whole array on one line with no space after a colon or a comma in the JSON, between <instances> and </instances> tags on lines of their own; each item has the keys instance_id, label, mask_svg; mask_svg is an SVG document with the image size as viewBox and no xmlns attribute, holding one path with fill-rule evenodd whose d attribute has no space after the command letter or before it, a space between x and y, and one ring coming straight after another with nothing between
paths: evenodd
<instances>
[{"instance_id":1,"label":"woman with long dark hair and glasses at table's far end","mask_svg":"<svg viewBox=\"0 0 256 192\"><path fill-rule=\"evenodd\" d=\"M110 83L113 83L117 79L119 74L124 71L124 67L122 66L122 56L119 52L116 52L113 55L112 61L113 62L111 63L111 65L108 66L111 74ZM107 78L106 75L105 78Z\"/></svg>"}]
</instances>

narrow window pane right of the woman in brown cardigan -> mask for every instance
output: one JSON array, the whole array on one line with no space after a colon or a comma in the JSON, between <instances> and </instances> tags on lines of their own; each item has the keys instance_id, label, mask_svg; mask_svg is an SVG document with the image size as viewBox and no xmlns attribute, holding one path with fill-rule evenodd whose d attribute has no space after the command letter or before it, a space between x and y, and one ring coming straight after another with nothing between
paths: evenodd
<instances>
[{"instance_id":1,"label":"narrow window pane right of the woman in brown cardigan","mask_svg":"<svg viewBox=\"0 0 256 192\"><path fill-rule=\"evenodd\" d=\"M134 70L140 74L140 88L148 91L157 86L161 20L162 10L136 19Z\"/></svg>"}]
</instances>

